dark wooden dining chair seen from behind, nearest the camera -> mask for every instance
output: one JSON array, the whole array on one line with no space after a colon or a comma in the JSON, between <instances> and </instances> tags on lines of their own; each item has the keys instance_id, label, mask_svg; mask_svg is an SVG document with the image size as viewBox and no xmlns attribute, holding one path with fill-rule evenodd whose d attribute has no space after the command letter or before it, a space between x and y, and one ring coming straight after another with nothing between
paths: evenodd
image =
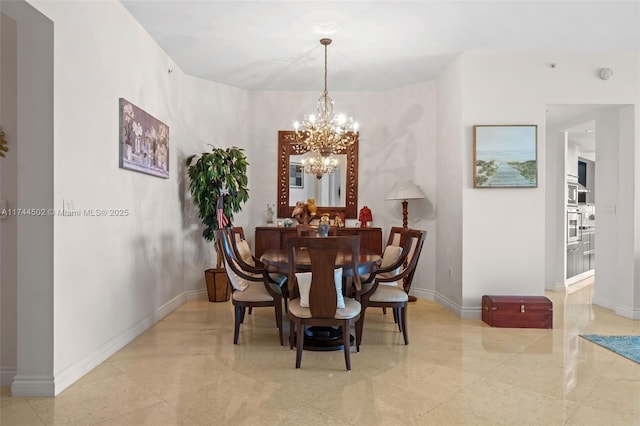
<instances>
[{"instance_id":1,"label":"dark wooden dining chair seen from behind, nearest the camera","mask_svg":"<svg viewBox=\"0 0 640 426\"><path fill-rule=\"evenodd\" d=\"M297 256L305 250L310 259L311 272L298 270ZM360 316L360 303L343 295L343 268L337 268L336 259L341 250L351 256L348 268L358 270L360 236L299 237L287 239L289 259L289 291L295 298L289 301L289 348L296 341L296 368L302 363L304 326L342 327L342 343L347 370L351 370L350 327ZM360 278L354 274L355 286L360 289ZM294 339L295 337L295 339ZM356 336L356 339L359 337Z\"/></svg>"}]
</instances>

